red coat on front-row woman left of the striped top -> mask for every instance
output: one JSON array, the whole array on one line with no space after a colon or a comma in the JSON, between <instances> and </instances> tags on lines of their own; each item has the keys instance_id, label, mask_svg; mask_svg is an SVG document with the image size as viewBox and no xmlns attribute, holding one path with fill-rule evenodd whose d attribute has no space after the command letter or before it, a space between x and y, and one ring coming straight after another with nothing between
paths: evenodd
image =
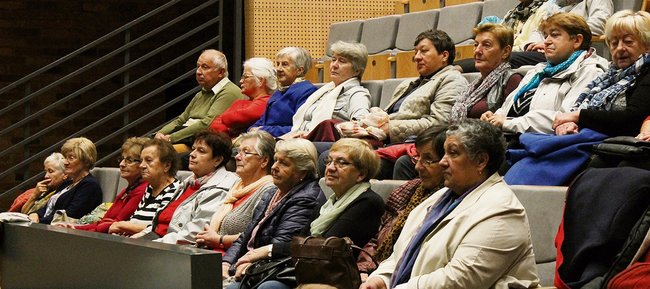
<instances>
[{"instance_id":1,"label":"red coat on front-row woman left of the striped top","mask_svg":"<svg viewBox=\"0 0 650 289\"><path fill-rule=\"evenodd\" d=\"M108 228L114 222L126 221L131 218L133 212L138 209L138 204L144 196L144 191L147 188L147 182L140 182L135 188L126 193L127 189L122 190L121 193L115 197L113 205L106 211L104 217L97 223L76 226L75 228L90 232L108 233Z\"/></svg>"}]
</instances>

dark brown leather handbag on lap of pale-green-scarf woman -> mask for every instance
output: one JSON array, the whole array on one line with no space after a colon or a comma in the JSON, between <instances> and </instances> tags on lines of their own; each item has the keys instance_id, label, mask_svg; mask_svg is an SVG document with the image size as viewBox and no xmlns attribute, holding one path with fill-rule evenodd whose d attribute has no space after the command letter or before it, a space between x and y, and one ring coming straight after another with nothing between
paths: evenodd
<instances>
[{"instance_id":1,"label":"dark brown leather handbag on lap of pale-green-scarf woman","mask_svg":"<svg viewBox=\"0 0 650 289\"><path fill-rule=\"evenodd\" d=\"M319 283L336 288L359 288L361 277L350 238L294 237L291 257L298 284Z\"/></svg>"}]
</instances>

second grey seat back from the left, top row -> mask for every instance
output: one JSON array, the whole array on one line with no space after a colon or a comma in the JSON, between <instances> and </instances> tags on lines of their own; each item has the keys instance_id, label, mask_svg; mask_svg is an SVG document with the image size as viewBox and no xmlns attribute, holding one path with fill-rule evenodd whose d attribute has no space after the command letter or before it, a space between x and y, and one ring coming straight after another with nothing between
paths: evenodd
<instances>
[{"instance_id":1,"label":"second grey seat back from the left, top row","mask_svg":"<svg viewBox=\"0 0 650 289\"><path fill-rule=\"evenodd\" d=\"M361 30L361 43L368 54L378 54L395 48L395 37L400 15L388 15L367 19Z\"/></svg>"}]
</instances>

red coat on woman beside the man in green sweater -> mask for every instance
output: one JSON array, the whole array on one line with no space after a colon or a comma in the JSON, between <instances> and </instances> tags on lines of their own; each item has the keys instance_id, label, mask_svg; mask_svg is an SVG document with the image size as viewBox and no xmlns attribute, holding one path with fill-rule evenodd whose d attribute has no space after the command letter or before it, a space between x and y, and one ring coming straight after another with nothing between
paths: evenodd
<instances>
[{"instance_id":1,"label":"red coat on woman beside the man in green sweater","mask_svg":"<svg viewBox=\"0 0 650 289\"><path fill-rule=\"evenodd\" d=\"M212 121L210 129L227 133L231 138L237 137L262 117L270 97L263 95L254 100L236 100L228 110Z\"/></svg>"}]
</instances>

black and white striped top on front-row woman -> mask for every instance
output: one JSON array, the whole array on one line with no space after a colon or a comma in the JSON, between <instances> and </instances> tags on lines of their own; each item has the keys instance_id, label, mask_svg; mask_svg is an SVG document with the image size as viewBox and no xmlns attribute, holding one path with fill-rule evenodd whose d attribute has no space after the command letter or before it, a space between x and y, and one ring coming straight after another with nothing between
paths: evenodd
<instances>
[{"instance_id":1,"label":"black and white striped top on front-row woman","mask_svg":"<svg viewBox=\"0 0 650 289\"><path fill-rule=\"evenodd\" d=\"M153 188L151 185L147 186L147 190L144 192L144 197L138 204L138 209L131 216L131 221L142 222L145 224L151 224L153 217L162 210L169 202L174 198L174 193L183 185L179 180L174 180L173 183L165 187L158 196L152 196L151 192Z\"/></svg>"}]
</instances>

